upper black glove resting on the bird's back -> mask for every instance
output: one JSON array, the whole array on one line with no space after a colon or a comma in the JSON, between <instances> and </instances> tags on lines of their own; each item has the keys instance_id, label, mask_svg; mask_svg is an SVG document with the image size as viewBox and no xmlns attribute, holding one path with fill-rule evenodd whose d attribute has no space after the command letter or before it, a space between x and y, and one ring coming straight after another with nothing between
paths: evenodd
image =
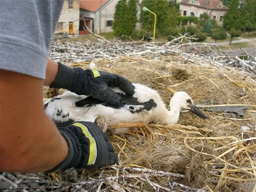
<instances>
[{"instance_id":1,"label":"upper black glove resting on the bird's back","mask_svg":"<svg viewBox=\"0 0 256 192\"><path fill-rule=\"evenodd\" d=\"M127 95L134 94L134 86L126 78L98 70L70 68L58 62L58 72L51 88L66 88L77 95L88 95L115 106L121 105L121 97L110 87L119 87Z\"/></svg>"}]
</instances>

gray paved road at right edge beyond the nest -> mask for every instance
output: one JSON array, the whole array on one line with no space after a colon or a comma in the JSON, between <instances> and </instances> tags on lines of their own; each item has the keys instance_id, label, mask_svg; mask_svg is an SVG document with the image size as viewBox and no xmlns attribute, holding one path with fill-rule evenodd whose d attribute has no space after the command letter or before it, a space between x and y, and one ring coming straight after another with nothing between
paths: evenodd
<instances>
[{"instance_id":1,"label":"gray paved road at right edge beyond the nest","mask_svg":"<svg viewBox=\"0 0 256 192\"><path fill-rule=\"evenodd\" d=\"M245 53L248 53L252 57L256 57L256 38L238 38L238 40L232 41L232 43L242 43L242 42L248 42L250 43L250 47L243 47L243 48L228 48L227 50L223 50L224 53L227 54L227 56L233 57L238 55L244 55ZM217 45L229 45L229 42L221 42Z\"/></svg>"}]
</instances>

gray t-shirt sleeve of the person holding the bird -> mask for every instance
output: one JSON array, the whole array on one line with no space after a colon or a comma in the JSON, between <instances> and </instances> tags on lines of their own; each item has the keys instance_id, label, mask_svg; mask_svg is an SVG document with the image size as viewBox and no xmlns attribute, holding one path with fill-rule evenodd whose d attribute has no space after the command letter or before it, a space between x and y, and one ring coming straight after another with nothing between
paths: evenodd
<instances>
[{"instance_id":1,"label":"gray t-shirt sleeve of the person holding the bird","mask_svg":"<svg viewBox=\"0 0 256 192\"><path fill-rule=\"evenodd\" d=\"M0 69L45 78L63 0L0 1Z\"/></svg>"}]
</instances>

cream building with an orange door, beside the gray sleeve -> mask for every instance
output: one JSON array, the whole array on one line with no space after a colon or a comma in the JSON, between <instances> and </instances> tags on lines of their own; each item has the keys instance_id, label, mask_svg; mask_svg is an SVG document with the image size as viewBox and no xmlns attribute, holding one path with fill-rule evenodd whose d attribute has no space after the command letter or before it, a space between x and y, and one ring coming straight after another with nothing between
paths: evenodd
<instances>
[{"instance_id":1,"label":"cream building with an orange door, beside the gray sleeve","mask_svg":"<svg viewBox=\"0 0 256 192\"><path fill-rule=\"evenodd\" d=\"M65 0L55 33L79 34L79 0Z\"/></svg>"}]
</instances>

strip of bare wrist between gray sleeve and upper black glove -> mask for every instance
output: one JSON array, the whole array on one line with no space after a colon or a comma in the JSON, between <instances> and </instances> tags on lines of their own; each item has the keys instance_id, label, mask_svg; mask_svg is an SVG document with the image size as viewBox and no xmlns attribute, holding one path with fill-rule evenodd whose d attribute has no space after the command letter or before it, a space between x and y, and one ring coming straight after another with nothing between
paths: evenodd
<instances>
[{"instance_id":1,"label":"strip of bare wrist between gray sleeve and upper black glove","mask_svg":"<svg viewBox=\"0 0 256 192\"><path fill-rule=\"evenodd\" d=\"M46 79L43 81L43 85L50 86L51 83L55 80L55 77L58 72L58 63L48 59L46 66Z\"/></svg>"}]
</instances>

